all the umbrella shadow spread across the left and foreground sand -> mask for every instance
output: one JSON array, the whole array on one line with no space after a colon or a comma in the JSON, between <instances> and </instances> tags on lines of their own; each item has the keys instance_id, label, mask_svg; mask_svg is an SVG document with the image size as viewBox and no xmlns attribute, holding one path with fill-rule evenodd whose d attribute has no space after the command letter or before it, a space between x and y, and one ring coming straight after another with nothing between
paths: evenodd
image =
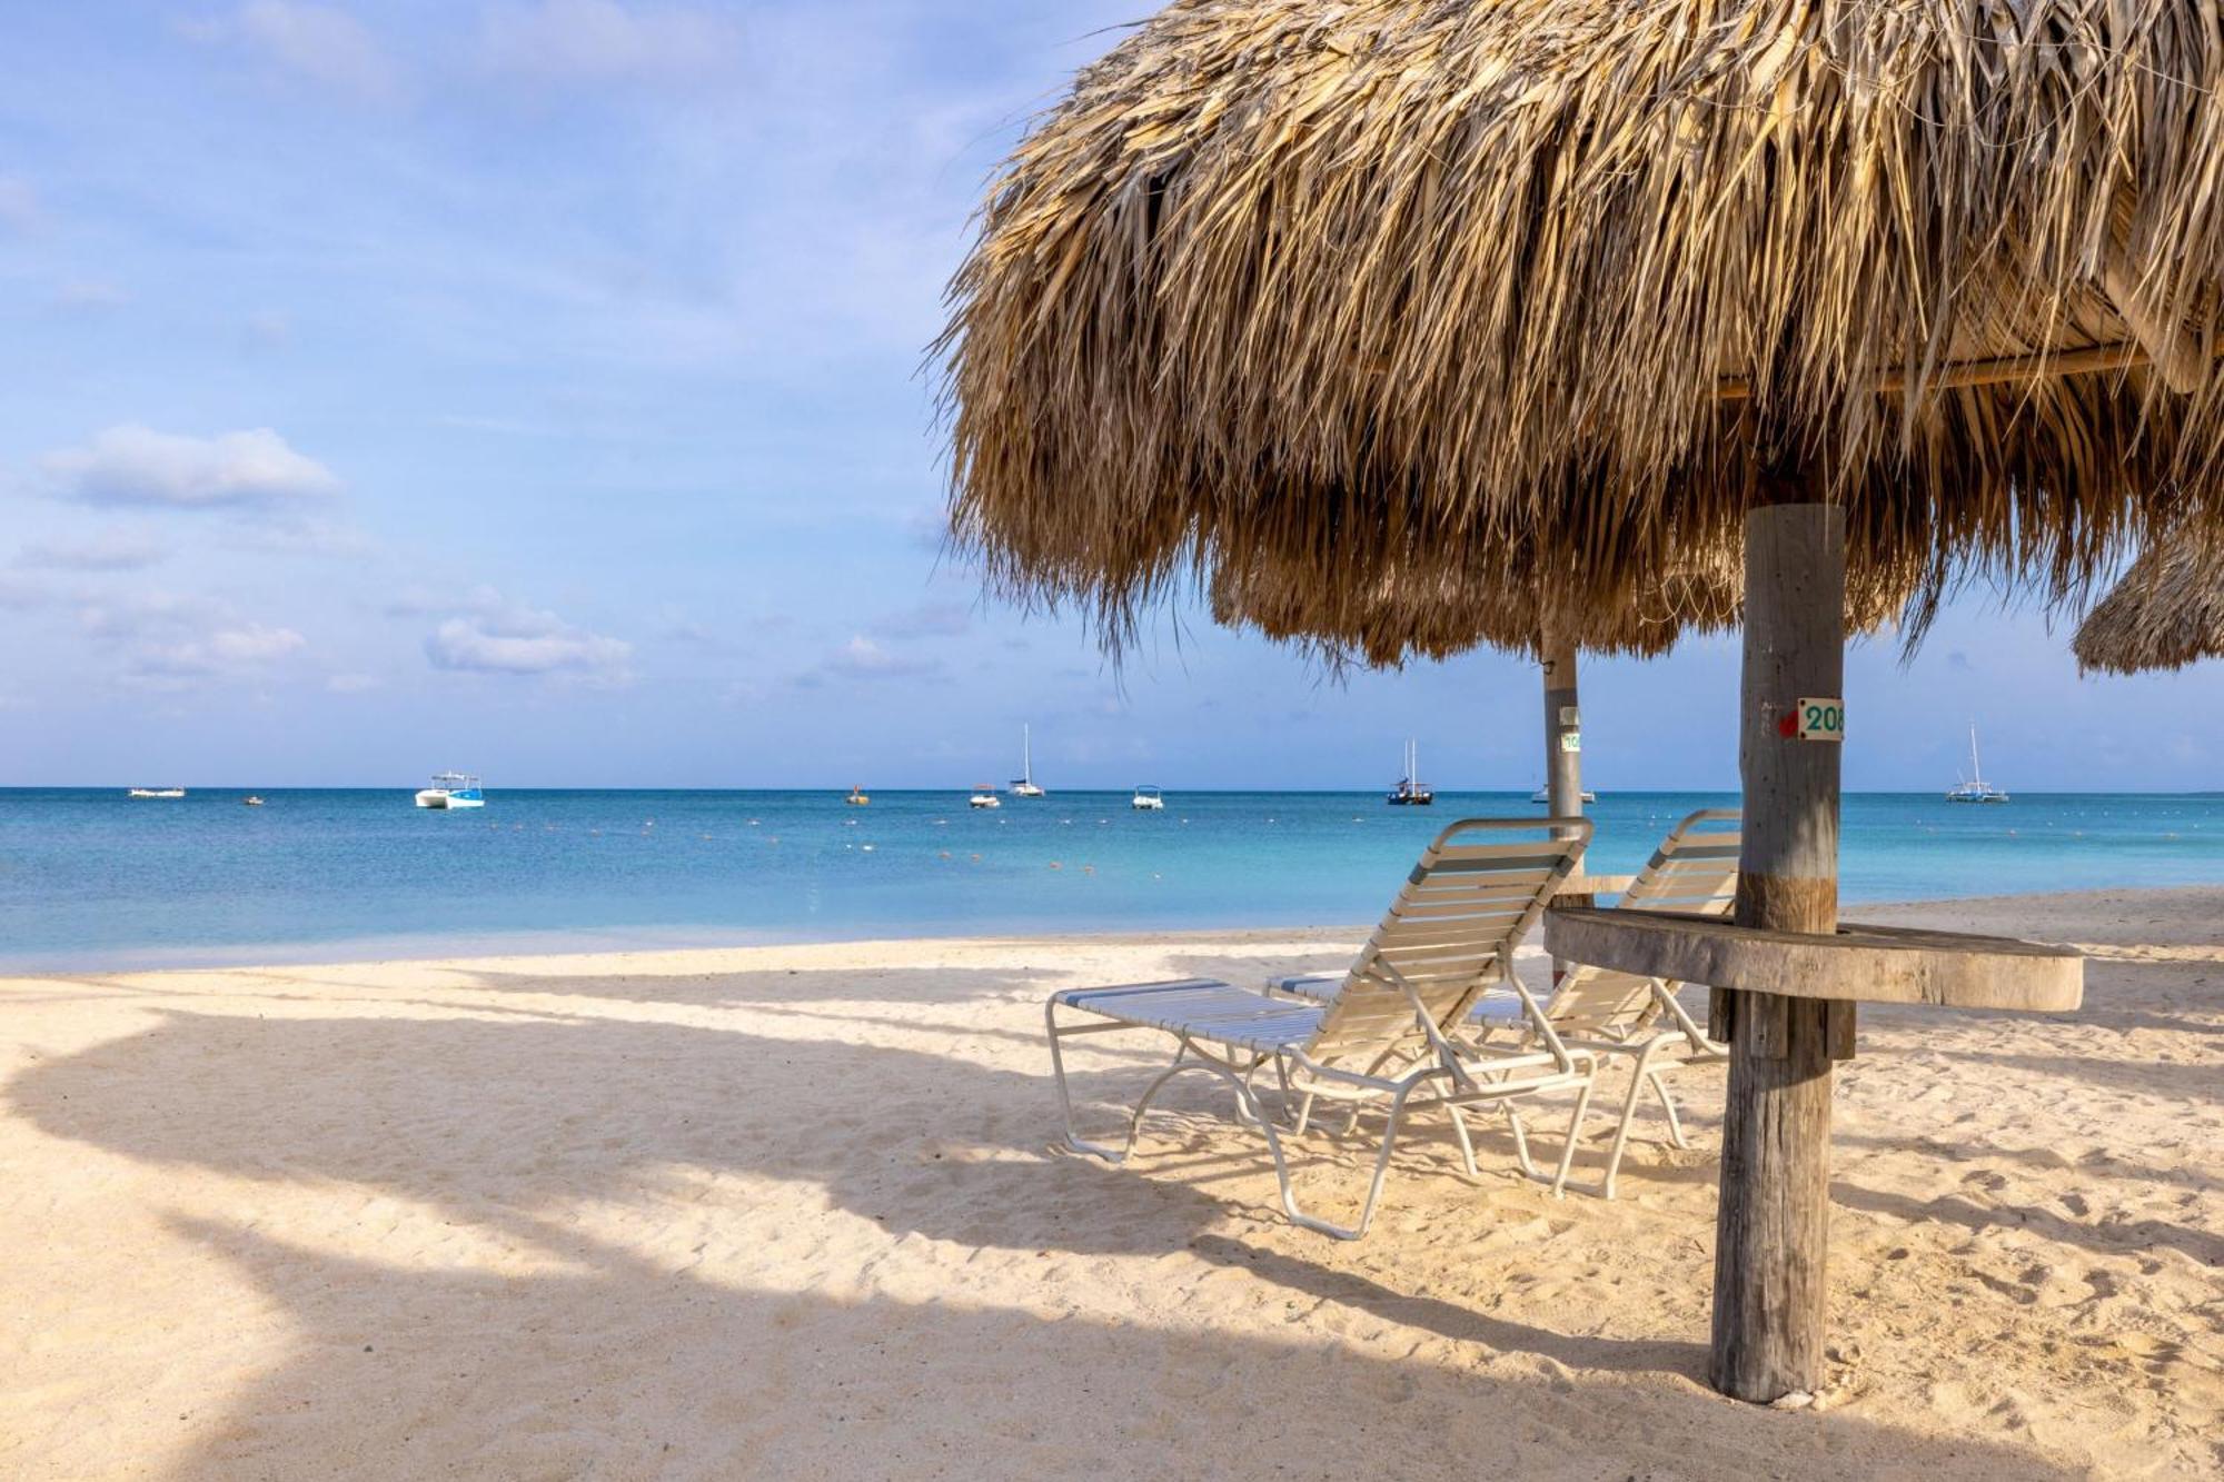
<instances>
[{"instance_id":1,"label":"all the umbrella shadow spread across the left and foreground sand","mask_svg":"<svg viewBox=\"0 0 2224 1482\"><path fill-rule=\"evenodd\" d=\"M870 1026L874 1001L1034 992L1010 972L729 975L692 999L796 1012L807 999L810 1019L783 1019L812 1028L798 1039L594 1017L587 1004L449 1001L471 1017L445 1019L176 1008L20 1073L7 1099L56 1137L145 1164L367 1188L554 1257L532 1275L396 1266L258 1233L245 1206L236 1222L176 1217L298 1333L287 1362L196 1426L180 1478L1330 1475L1386 1455L1401 1475L2055 1475L1984 1442L1728 1404L1697 1382L1697 1342L1561 1335L1403 1291L1394 1259L1210 1197L1190 1168L1263 1170L1217 1117L1194 1135L1176 1117L1190 1168L1161 1155L1152 1177L1108 1173L1048 1153L1043 1073L858 1044L827 1021L843 997ZM318 1004L331 1008L322 992ZM238 1099L196 1088L214 1064ZM1134 1079L1114 1066L1079 1088ZM1190 1097L1176 1113L1210 1104ZM941 1157L952 1146L976 1155ZM898 1246L939 1242L950 1280L876 1286L865 1262L801 1291L736 1288L578 1215L656 1219L674 1168L823 1190ZM1374 1242L1394 1255L1394 1233ZM1007 1286L967 1297L963 1266L981 1253L1041 1259L1043 1302L1012 1306ZM1072 1255L1139 1257L1116 1266L1134 1282L1259 1282L1261 1304L1288 1308L1288 1337L1108 1317L1119 1308L1101 1291L1094 1311L1061 1306L1054 1268ZM1343 1326L1408 1328L1408 1348L1441 1342L1410 1360L1357 1353L1334 1340L1330 1308Z\"/></svg>"}]
</instances>

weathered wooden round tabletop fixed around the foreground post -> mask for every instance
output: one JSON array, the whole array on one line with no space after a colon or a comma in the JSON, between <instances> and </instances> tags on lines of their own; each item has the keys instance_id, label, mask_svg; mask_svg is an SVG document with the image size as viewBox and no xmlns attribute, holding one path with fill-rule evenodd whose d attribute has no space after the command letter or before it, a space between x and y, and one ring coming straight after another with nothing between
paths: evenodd
<instances>
[{"instance_id":1,"label":"weathered wooden round tabletop fixed around the foreground post","mask_svg":"<svg viewBox=\"0 0 2224 1482\"><path fill-rule=\"evenodd\" d=\"M1681 984L1855 1004L2064 1012L2084 1001L2073 948L1844 921L1833 937L1764 932L1666 910L1555 906L1555 957Z\"/></svg>"}]
</instances>

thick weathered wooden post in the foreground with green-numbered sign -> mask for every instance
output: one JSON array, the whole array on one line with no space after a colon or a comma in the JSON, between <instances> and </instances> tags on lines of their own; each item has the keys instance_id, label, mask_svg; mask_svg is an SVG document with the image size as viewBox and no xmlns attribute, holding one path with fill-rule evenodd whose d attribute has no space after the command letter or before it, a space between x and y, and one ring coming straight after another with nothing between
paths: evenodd
<instances>
[{"instance_id":1,"label":"thick weathered wooden post in the foreground with green-numbered sign","mask_svg":"<svg viewBox=\"0 0 2224 1482\"><path fill-rule=\"evenodd\" d=\"M1746 790L1737 926L1837 930L1835 741L1801 741L1801 699L1844 699L1846 516L1781 503L1746 516ZM1710 1380L1766 1404L1821 1384L1830 1237L1830 1061L1853 1004L1715 992L1730 1041L1715 1213Z\"/></svg>"}]
</instances>

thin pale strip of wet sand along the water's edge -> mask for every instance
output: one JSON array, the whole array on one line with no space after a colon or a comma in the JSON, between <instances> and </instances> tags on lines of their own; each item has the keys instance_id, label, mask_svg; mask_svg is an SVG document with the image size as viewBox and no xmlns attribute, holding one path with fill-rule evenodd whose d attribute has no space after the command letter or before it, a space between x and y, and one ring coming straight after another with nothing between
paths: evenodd
<instances>
[{"instance_id":1,"label":"thin pale strip of wet sand along the water's edge","mask_svg":"<svg viewBox=\"0 0 2224 1482\"><path fill-rule=\"evenodd\" d=\"M1908 901L1857 901L1841 910L1848 921L1859 921L1868 915L1895 917L1899 912L1935 912L1955 908L1979 908L1993 910L2004 903L2035 903L2053 901L2064 910L2082 910L2088 906L2115 901L2124 895L2157 897L2160 901L2175 901L2180 897L2195 897L2202 892L2217 895L2224 901L2224 881L2195 881L2182 886L2126 886L2122 890L2019 890L1999 895L1953 895L1953 897L1926 897ZM925 946L981 946L981 943L1056 943L1056 941L1081 941L1081 943L1108 943L1108 946L1143 946L1152 941L1243 941L1248 937L1274 937L1274 939L1319 939L1319 941L1357 941L1372 930L1372 921L1350 921L1341 926L1317 926L1317 923L1294 923L1294 926L1259 926L1259 923L1232 923L1232 926L1170 926L1170 928L1088 928L1076 926L1072 930L987 930L987 932L867 932L867 935L785 935L785 932L747 932L745 928L692 928L692 926L645 926L645 928L580 928L580 930L547 930L547 932L487 932L474 937L342 937L334 941L305 941L298 943L269 943L262 946L211 946L211 948L180 948L173 957L153 959L171 952L171 948L129 948L107 961L76 964L76 966L44 966L27 961L9 961L0 957L0 984L9 979L71 979L71 977L140 977L149 972L254 972L260 968L349 968L349 966L469 966L469 964L498 964L498 961L540 961L556 964L563 959L627 959L638 961L643 957L701 957L701 955L729 955L729 952L763 952L778 948L890 948L905 943ZM685 937L703 937L687 941ZM638 939L638 941L636 941Z\"/></svg>"}]
</instances>

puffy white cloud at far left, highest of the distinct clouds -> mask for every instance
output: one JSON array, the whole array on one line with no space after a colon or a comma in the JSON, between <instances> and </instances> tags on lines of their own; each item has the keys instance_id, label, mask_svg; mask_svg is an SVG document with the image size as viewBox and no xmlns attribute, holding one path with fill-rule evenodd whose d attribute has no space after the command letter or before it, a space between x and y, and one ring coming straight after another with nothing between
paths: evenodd
<instances>
[{"instance_id":1,"label":"puffy white cloud at far left, highest of the distinct clouds","mask_svg":"<svg viewBox=\"0 0 2224 1482\"><path fill-rule=\"evenodd\" d=\"M294 452L269 427L193 438L127 423L85 447L47 454L42 467L71 498L89 505L282 505L340 487L329 467Z\"/></svg>"}]
</instances>

